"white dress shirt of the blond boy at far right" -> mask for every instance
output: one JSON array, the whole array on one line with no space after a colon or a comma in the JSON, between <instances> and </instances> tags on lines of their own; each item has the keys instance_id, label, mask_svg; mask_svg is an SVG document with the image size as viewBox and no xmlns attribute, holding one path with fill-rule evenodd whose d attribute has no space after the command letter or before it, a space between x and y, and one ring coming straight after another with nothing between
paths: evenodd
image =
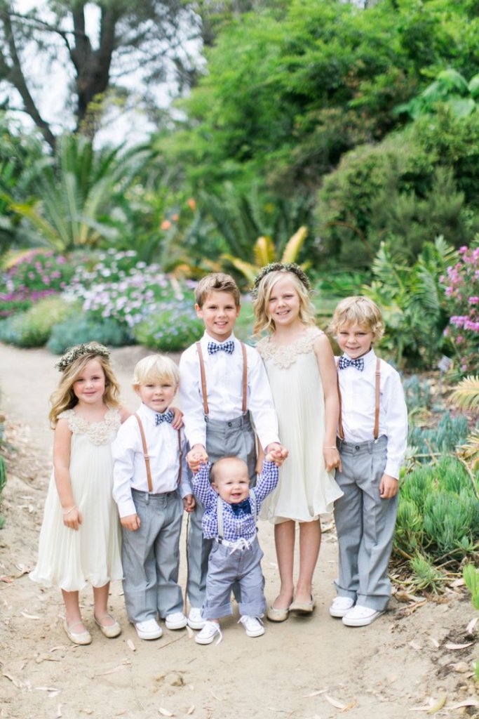
<instances>
[{"instance_id":1,"label":"white dress shirt of the blond boy at far right","mask_svg":"<svg viewBox=\"0 0 479 719\"><path fill-rule=\"evenodd\" d=\"M344 355L348 357L348 354ZM350 358L348 358L350 359ZM344 439L351 444L374 439L376 409L376 354L363 355L364 370L338 369L341 390L341 417ZM407 443L407 408L401 377L394 367L381 359L379 395L379 434L388 438L384 473L399 477Z\"/></svg>"}]
</instances>

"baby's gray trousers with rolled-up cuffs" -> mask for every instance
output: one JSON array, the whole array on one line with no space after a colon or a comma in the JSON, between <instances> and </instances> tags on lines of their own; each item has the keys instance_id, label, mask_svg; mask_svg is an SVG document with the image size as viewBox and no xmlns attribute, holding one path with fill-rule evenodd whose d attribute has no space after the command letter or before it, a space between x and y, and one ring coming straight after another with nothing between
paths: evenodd
<instances>
[{"instance_id":1,"label":"baby's gray trousers with rolled-up cuffs","mask_svg":"<svg viewBox=\"0 0 479 719\"><path fill-rule=\"evenodd\" d=\"M231 589L238 582L241 615L260 617L266 611L264 577L261 572L263 552L258 539L246 549L235 549L213 540L208 562L205 603L202 615L205 619L220 619L233 614Z\"/></svg>"}]
</instances>

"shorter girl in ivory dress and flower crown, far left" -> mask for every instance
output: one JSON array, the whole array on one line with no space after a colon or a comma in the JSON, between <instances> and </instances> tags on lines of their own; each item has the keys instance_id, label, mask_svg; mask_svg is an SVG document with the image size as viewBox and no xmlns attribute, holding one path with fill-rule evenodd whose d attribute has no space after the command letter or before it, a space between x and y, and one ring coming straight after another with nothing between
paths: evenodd
<instances>
[{"instance_id":1,"label":"shorter girl in ivory dress and flower crown, far left","mask_svg":"<svg viewBox=\"0 0 479 719\"><path fill-rule=\"evenodd\" d=\"M30 577L62 590L63 626L73 644L91 641L78 599L87 581L93 586L96 624L108 638L121 632L107 606L110 582L123 577L120 523L111 493L111 442L129 413L118 403L109 354L95 342L70 349L55 365L62 379L50 398L53 473L38 562Z\"/></svg>"}]
</instances>

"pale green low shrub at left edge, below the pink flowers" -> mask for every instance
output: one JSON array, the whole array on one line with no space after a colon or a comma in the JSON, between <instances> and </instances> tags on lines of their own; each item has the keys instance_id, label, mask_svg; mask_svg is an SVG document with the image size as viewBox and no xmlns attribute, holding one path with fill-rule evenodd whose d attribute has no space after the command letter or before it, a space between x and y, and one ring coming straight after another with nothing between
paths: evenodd
<instances>
[{"instance_id":1,"label":"pale green low shrub at left edge, below the pink flowers","mask_svg":"<svg viewBox=\"0 0 479 719\"><path fill-rule=\"evenodd\" d=\"M0 323L0 339L17 347L42 347L55 324L75 312L75 306L60 296L39 300L26 312Z\"/></svg>"}]
</instances>

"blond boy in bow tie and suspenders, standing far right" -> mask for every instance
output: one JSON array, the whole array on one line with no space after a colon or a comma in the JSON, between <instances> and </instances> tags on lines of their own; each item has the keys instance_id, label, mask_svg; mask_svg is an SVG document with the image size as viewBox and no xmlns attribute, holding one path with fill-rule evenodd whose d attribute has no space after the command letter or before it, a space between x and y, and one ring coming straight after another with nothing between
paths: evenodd
<instances>
[{"instance_id":1,"label":"blond boy in bow tie and suspenders, standing far right","mask_svg":"<svg viewBox=\"0 0 479 719\"><path fill-rule=\"evenodd\" d=\"M383 322L373 301L348 297L330 325L343 356L338 361L340 416L335 503L338 597L330 615L346 626L371 624L391 595L388 563L397 513L399 470L407 440L407 409L398 372L376 357Z\"/></svg>"}]
</instances>

